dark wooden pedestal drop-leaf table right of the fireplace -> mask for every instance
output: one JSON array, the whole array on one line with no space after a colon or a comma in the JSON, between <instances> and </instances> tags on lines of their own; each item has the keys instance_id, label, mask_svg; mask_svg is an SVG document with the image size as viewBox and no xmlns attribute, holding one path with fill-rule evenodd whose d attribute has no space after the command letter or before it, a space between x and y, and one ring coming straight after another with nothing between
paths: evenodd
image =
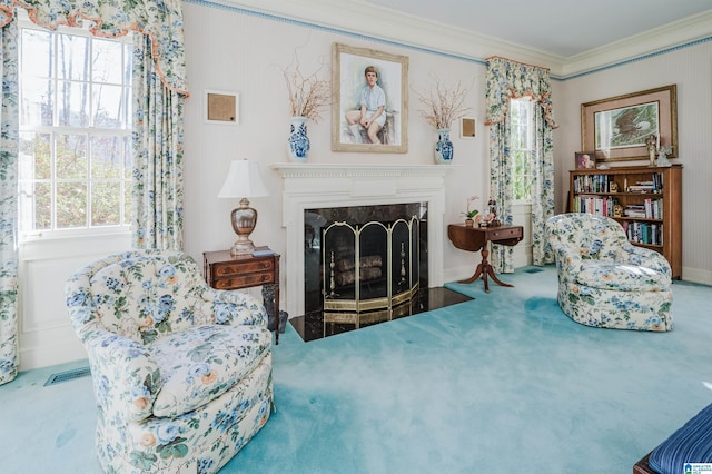
<instances>
[{"instance_id":1,"label":"dark wooden pedestal drop-leaf table right of the fireplace","mask_svg":"<svg viewBox=\"0 0 712 474\"><path fill-rule=\"evenodd\" d=\"M458 283L473 283L482 275L482 279L485 283L485 293L490 293L487 276L490 276L500 286L513 286L501 282L495 275L492 265L487 261L487 257L490 256L488 243L493 241L495 244L507 246L517 245L524 237L524 227L467 227L464 224L451 224L447 226L447 237L455 247L462 250L477 251L482 249L482 261L477 265L475 274Z\"/></svg>"}]
</instances>

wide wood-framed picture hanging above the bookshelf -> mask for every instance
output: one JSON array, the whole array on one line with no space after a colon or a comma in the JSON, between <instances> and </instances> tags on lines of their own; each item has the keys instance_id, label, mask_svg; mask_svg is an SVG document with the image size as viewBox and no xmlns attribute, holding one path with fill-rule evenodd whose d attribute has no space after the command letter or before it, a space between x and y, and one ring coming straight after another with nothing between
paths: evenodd
<instances>
[{"instance_id":1,"label":"wide wood-framed picture hanging above the bookshelf","mask_svg":"<svg viewBox=\"0 0 712 474\"><path fill-rule=\"evenodd\" d=\"M646 160L651 135L678 157L676 85L581 105L581 149L595 150L596 161Z\"/></svg>"}]
</instances>

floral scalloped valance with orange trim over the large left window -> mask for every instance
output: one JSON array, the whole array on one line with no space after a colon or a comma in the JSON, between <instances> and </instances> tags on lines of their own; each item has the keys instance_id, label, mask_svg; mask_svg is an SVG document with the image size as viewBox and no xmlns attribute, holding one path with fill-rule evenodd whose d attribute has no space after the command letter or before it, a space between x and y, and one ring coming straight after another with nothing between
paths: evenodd
<instances>
[{"instance_id":1,"label":"floral scalloped valance with orange trim over the large left window","mask_svg":"<svg viewBox=\"0 0 712 474\"><path fill-rule=\"evenodd\" d=\"M118 38L129 31L148 36L164 85L188 96L180 0L0 0L0 27L12 21L16 7L51 30L61 24L80 27L88 20L98 37Z\"/></svg>"}]
</instances>

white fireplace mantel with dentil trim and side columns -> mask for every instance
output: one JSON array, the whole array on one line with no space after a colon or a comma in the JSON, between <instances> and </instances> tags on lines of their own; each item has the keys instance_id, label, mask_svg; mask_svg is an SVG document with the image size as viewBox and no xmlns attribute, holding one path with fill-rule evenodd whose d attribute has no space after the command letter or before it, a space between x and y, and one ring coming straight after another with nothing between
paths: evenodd
<instances>
[{"instance_id":1,"label":"white fireplace mantel with dentil trim and side columns","mask_svg":"<svg viewBox=\"0 0 712 474\"><path fill-rule=\"evenodd\" d=\"M427 203L428 285L443 286L445 175L452 165L275 164L284 178L284 300L304 315L304 211L320 207Z\"/></svg>"}]
</instances>

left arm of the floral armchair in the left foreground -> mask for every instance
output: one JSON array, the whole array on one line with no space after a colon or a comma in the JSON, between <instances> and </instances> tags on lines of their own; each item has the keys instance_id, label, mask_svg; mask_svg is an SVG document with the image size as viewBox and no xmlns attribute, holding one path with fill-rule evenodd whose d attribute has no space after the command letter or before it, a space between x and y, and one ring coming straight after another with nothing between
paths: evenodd
<instances>
[{"instance_id":1,"label":"left arm of the floral armchair in the left foreground","mask_svg":"<svg viewBox=\"0 0 712 474\"><path fill-rule=\"evenodd\" d=\"M150 416L162 381L146 347L106 330L96 320L85 327L81 338L89 354L100 409L130 422Z\"/></svg>"}]
</instances>

